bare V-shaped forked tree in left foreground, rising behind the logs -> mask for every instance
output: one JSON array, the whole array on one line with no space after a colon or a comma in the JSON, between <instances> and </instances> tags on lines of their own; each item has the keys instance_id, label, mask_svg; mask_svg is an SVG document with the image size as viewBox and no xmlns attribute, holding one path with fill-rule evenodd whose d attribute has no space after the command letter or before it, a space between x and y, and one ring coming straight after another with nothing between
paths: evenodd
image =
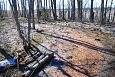
<instances>
[{"instance_id":1,"label":"bare V-shaped forked tree in left foreground, rising behind the logs","mask_svg":"<svg viewBox=\"0 0 115 77\"><path fill-rule=\"evenodd\" d=\"M15 22L16 22L19 37L22 39L23 47L24 47L25 51L28 53L28 49L29 49L30 44L31 44L31 40L30 40L31 10L29 10L29 14L28 14L28 36L26 37L27 38L26 39L24 37L24 32L21 30L21 25L20 25L20 22L19 22L19 19L18 19L17 0L9 0L9 3L10 3L10 6L11 6L11 9L12 9L12 12L13 12L13 17L14 17ZM32 8L32 7L29 4L29 9L30 8Z\"/></svg>"}]
</instances>

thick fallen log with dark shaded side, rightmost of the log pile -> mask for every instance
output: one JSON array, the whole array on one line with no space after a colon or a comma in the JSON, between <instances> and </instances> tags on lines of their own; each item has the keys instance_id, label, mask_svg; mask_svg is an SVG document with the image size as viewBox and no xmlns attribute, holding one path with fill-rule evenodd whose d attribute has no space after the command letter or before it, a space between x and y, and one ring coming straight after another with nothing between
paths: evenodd
<instances>
[{"instance_id":1,"label":"thick fallen log with dark shaded side, rightmost of the log pile","mask_svg":"<svg viewBox=\"0 0 115 77\"><path fill-rule=\"evenodd\" d=\"M38 74L52 59L54 58L54 54L48 54L43 57L41 60L37 59L33 63L27 65L29 68L27 71L24 72L24 76L26 77L34 77Z\"/></svg>"}]
</instances>

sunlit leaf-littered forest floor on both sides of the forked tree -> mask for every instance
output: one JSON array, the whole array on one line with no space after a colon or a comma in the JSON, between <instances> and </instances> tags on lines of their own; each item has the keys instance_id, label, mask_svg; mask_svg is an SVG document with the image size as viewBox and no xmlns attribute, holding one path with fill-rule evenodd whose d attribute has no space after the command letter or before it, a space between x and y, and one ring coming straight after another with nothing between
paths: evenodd
<instances>
[{"instance_id":1,"label":"sunlit leaf-littered forest floor on both sides of the forked tree","mask_svg":"<svg viewBox=\"0 0 115 77\"><path fill-rule=\"evenodd\" d=\"M0 46L4 45L5 37L12 44L8 45L10 49L18 50L21 43L15 24L7 24L13 26L1 27ZM40 50L42 48L39 45L43 45L55 54L54 60L44 69L49 77L115 77L114 32L103 32L90 25L75 22L36 24L36 30L32 30L32 38L35 40L32 43ZM39 75L47 77L46 74L41 72Z\"/></svg>"}]
</instances>

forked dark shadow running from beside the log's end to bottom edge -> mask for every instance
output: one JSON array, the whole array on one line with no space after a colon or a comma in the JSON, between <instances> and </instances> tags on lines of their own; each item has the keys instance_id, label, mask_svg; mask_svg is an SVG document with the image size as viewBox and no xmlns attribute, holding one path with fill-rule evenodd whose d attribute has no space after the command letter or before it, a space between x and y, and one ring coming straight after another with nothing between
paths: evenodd
<instances>
[{"instance_id":1,"label":"forked dark shadow running from beside the log's end to bottom edge","mask_svg":"<svg viewBox=\"0 0 115 77\"><path fill-rule=\"evenodd\" d=\"M50 49L48 49L47 47L43 46L42 44L38 43L37 41L35 41L33 39L34 42L36 42L38 45L42 46L43 48L45 48L46 50L50 51L50 52L53 52L56 56L59 57L60 60L57 60L57 59L54 59L52 62L51 62L51 66L55 66L57 67L64 75L66 75L67 77L71 77L70 74L68 74L63 68L62 66L67 66L67 67L70 67L72 70L75 70L76 72L79 72L85 76L88 76L88 77L93 77L90 75L90 73L84 69L84 68L81 68L79 67L78 65L75 65L75 64L72 64L71 62L68 62L66 59L64 59L63 57L61 57L58 53L56 53L55 51L52 51Z\"/></svg>"}]
</instances>

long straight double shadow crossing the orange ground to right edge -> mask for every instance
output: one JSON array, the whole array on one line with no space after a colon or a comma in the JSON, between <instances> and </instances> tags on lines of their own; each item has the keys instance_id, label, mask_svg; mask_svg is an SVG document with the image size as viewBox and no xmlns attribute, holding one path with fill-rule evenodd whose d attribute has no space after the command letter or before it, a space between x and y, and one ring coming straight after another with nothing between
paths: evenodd
<instances>
[{"instance_id":1,"label":"long straight double shadow crossing the orange ground to right edge","mask_svg":"<svg viewBox=\"0 0 115 77\"><path fill-rule=\"evenodd\" d=\"M73 43L73 44L81 45L81 46L87 47L87 48L92 49L92 50L100 51L102 53L106 53L106 54L115 56L115 51L113 51L111 49L98 47L98 46L90 44L88 42L77 40L77 39L74 39L74 38L71 38L71 37L68 37L68 36L64 36L64 35L58 35L57 36L57 35L54 35L54 34L44 33L43 30L37 31L37 32L40 33L40 34L43 34L43 35L47 35L47 36L50 36L50 37L53 37L53 38L62 39L62 40L68 41L68 42Z\"/></svg>"}]
</instances>

